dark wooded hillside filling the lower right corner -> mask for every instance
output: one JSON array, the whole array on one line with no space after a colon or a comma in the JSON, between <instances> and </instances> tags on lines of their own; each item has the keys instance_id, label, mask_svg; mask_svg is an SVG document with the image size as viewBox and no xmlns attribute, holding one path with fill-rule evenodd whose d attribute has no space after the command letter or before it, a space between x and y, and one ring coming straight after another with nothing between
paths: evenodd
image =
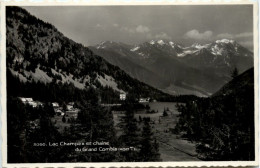
<instances>
[{"instance_id":1,"label":"dark wooded hillside filling the lower right corner","mask_svg":"<svg viewBox=\"0 0 260 168\"><path fill-rule=\"evenodd\" d=\"M198 143L203 160L254 160L254 93L251 68L212 97L180 105L175 130Z\"/></svg>"}]
</instances>

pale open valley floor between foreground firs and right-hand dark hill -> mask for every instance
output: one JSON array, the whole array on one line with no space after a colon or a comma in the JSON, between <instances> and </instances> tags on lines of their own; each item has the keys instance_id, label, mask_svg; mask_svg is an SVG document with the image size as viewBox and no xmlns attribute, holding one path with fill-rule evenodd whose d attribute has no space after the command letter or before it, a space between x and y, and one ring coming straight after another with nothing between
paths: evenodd
<instances>
[{"instance_id":1,"label":"pale open valley floor between foreground firs and right-hand dark hill","mask_svg":"<svg viewBox=\"0 0 260 168\"><path fill-rule=\"evenodd\" d=\"M139 116L150 117L151 128L154 136L159 142L160 154L163 161L199 161L196 157L195 144L179 138L171 132L178 120L178 111L176 110L176 103L150 103L151 110L158 110L158 113L148 114L140 111L135 114L138 121ZM162 117L163 109L168 108L168 116ZM120 123L120 118L124 114L114 114L115 126ZM142 128L142 123L138 124ZM117 135L121 134L120 128L116 127Z\"/></svg>"}]
</instances>

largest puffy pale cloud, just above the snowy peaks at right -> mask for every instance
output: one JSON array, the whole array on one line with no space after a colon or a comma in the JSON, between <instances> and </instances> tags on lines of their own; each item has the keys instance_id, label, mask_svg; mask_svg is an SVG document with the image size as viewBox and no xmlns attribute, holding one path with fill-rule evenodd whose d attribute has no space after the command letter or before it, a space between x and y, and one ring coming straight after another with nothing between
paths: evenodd
<instances>
[{"instance_id":1,"label":"largest puffy pale cloud, just above the snowy peaks at right","mask_svg":"<svg viewBox=\"0 0 260 168\"><path fill-rule=\"evenodd\" d=\"M213 33L212 31L205 31L204 33L200 33L198 30L193 29L185 33L185 38L195 39L195 40L209 40L211 39Z\"/></svg>"}]
</instances>

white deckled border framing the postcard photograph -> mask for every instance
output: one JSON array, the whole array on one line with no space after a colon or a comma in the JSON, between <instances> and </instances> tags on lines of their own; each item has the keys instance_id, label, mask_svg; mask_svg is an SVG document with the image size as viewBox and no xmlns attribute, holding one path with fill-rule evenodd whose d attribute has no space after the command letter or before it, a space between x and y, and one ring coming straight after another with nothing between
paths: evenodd
<instances>
[{"instance_id":1,"label":"white deckled border framing the postcard photograph","mask_svg":"<svg viewBox=\"0 0 260 168\"><path fill-rule=\"evenodd\" d=\"M253 0L0 0L1 2L1 160L3 167L201 167L201 166L257 166L259 165L259 66L258 66L258 1ZM6 123L6 34L5 34L5 7L6 6L105 6L105 5L253 5L254 17L254 79L255 79L255 161L180 161L180 162L102 162L102 163L7 163L7 123Z\"/></svg>"}]
</instances>

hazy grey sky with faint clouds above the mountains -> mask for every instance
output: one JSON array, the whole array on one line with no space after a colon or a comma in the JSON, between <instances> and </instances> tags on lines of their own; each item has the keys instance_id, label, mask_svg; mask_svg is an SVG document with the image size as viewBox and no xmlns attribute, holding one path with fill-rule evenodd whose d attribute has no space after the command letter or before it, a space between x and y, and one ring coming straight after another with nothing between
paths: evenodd
<instances>
[{"instance_id":1,"label":"hazy grey sky with faint clouds above the mountains","mask_svg":"<svg viewBox=\"0 0 260 168\"><path fill-rule=\"evenodd\" d=\"M252 5L24 7L83 45L168 39L184 45L234 39L253 46Z\"/></svg>"}]
</instances>

